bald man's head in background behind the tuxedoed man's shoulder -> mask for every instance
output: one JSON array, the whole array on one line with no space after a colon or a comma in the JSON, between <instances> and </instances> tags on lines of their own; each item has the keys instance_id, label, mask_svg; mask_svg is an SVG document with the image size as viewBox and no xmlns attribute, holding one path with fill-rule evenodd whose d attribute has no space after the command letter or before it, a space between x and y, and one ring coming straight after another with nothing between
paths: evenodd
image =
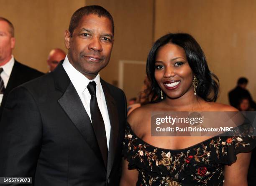
<instances>
[{"instance_id":1,"label":"bald man's head in background behind the tuxedoed man's shoulder","mask_svg":"<svg viewBox=\"0 0 256 186\"><path fill-rule=\"evenodd\" d=\"M56 66L59 64L59 62L61 60L64 60L65 57L66 57L66 53L60 48L52 49L47 59L47 66L49 68L48 72L52 72L56 68Z\"/></svg>"}]
</instances>

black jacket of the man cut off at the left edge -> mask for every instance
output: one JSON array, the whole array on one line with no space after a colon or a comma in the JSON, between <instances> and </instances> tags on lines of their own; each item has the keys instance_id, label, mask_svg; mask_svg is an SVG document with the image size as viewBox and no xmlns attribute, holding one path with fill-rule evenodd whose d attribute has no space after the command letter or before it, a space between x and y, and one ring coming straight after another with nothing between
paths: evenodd
<instances>
[{"instance_id":1,"label":"black jacket of the man cut off at the left edge","mask_svg":"<svg viewBox=\"0 0 256 186\"><path fill-rule=\"evenodd\" d=\"M26 65L23 65L15 60L13 65L13 70L10 74L10 78L8 80L7 86L5 88L5 93L3 96L3 100L0 106L0 119L3 113L3 108L5 106L5 102L7 100L7 97L13 88L17 87L18 85L21 85L23 83L26 83L29 80L33 80L35 78L38 78L39 76L43 75L44 73L39 72L36 69L30 68Z\"/></svg>"}]
</instances>

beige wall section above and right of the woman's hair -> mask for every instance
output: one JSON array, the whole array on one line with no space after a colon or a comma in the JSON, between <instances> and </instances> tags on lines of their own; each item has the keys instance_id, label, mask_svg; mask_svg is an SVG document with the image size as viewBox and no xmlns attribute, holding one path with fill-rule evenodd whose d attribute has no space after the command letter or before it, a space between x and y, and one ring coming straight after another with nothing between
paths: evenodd
<instances>
[{"instance_id":1,"label":"beige wall section above and right of the woman's hair","mask_svg":"<svg viewBox=\"0 0 256 186\"><path fill-rule=\"evenodd\" d=\"M255 0L156 0L154 40L168 32L190 33L220 80L218 102L228 103L228 91L241 76L256 99L255 9Z\"/></svg>"}]
</instances>

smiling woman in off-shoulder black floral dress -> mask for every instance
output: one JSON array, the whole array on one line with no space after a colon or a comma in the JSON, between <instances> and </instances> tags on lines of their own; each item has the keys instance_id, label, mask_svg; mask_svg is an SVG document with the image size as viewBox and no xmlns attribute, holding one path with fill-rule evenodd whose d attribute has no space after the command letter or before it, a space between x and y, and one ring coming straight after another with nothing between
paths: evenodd
<instances>
[{"instance_id":1,"label":"smiling woman in off-shoulder black floral dress","mask_svg":"<svg viewBox=\"0 0 256 186\"><path fill-rule=\"evenodd\" d=\"M128 117L120 185L246 186L253 137L151 136L153 111L237 111L215 103L218 78L197 41L183 33L159 38L147 75L154 100Z\"/></svg>"}]
</instances>

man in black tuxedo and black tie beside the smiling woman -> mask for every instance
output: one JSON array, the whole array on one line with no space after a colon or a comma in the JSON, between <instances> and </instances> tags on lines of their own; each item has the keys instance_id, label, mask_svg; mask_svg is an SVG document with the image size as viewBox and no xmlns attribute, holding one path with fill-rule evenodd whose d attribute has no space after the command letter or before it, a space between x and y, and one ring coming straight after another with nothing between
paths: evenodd
<instances>
[{"instance_id":1,"label":"man in black tuxedo and black tie beside the smiling woman","mask_svg":"<svg viewBox=\"0 0 256 186\"><path fill-rule=\"evenodd\" d=\"M126 99L99 75L113 35L113 18L100 6L72 15L64 61L8 98L0 177L32 177L34 186L119 185Z\"/></svg>"}]
</instances>

